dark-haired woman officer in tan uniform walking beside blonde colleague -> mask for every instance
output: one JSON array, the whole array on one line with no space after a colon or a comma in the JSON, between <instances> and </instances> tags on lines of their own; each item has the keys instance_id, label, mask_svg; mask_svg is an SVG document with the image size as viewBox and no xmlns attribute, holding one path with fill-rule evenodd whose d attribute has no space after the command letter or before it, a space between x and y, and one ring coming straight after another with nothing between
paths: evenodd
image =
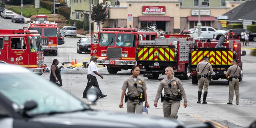
<instances>
[{"instance_id":1,"label":"dark-haired woman officer in tan uniform walking beside blonde colleague","mask_svg":"<svg viewBox=\"0 0 256 128\"><path fill-rule=\"evenodd\" d=\"M119 107L123 108L124 95L126 92L126 88L128 88L128 92L126 95L127 101L125 100L125 102L127 102L127 112L136 112L136 114L142 114L142 91L144 93L145 107L149 108L146 93L147 87L145 81L140 76L138 76L140 74L140 68L138 66L132 67L131 73L132 76L124 80Z\"/></svg>"}]
</instances>

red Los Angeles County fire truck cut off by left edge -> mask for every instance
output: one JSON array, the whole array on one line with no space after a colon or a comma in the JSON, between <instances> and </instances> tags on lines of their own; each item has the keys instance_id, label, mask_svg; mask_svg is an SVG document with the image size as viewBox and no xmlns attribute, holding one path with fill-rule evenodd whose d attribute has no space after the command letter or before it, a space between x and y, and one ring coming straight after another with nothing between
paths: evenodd
<instances>
[{"instance_id":1,"label":"red Los Angeles County fire truck cut off by left edge","mask_svg":"<svg viewBox=\"0 0 256 128\"><path fill-rule=\"evenodd\" d=\"M0 29L0 62L17 64L42 75L47 66L40 42L40 34L35 30Z\"/></svg>"}]
</instances>

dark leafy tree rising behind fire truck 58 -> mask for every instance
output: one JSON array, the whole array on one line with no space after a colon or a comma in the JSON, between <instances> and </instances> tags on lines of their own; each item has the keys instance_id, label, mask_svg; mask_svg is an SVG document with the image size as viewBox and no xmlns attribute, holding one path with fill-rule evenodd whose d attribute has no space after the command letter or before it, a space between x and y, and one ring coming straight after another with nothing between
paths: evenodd
<instances>
[{"instance_id":1,"label":"dark leafy tree rising behind fire truck 58","mask_svg":"<svg viewBox=\"0 0 256 128\"><path fill-rule=\"evenodd\" d=\"M92 7L91 18L97 23L99 30L101 30L100 24L104 24L106 21L106 16L108 15L106 12L107 7L108 6L105 6L103 3L97 3L97 5Z\"/></svg>"}]
</instances>

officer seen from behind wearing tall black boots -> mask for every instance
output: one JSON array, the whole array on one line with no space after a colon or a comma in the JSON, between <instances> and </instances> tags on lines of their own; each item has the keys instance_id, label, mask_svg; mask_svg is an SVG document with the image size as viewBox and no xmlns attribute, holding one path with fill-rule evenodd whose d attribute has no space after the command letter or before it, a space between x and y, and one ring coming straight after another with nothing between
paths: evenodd
<instances>
[{"instance_id":1,"label":"officer seen from behind wearing tall black boots","mask_svg":"<svg viewBox=\"0 0 256 128\"><path fill-rule=\"evenodd\" d=\"M204 56L204 60L197 64L196 72L198 72L198 75L199 75L198 101L196 103L201 104L202 89L204 88L203 104L207 104L206 97L208 94L208 87L210 83L210 80L208 79L208 77L210 77L210 74L213 73L212 65L209 63L208 56Z\"/></svg>"}]
</instances>

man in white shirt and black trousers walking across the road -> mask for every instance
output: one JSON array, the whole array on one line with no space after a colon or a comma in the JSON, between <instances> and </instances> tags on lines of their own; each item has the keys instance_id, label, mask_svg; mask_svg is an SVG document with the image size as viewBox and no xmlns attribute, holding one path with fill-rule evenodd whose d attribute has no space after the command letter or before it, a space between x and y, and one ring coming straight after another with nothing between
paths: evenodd
<instances>
[{"instance_id":1,"label":"man in white shirt and black trousers walking across the road","mask_svg":"<svg viewBox=\"0 0 256 128\"><path fill-rule=\"evenodd\" d=\"M83 98L87 98L86 93L88 92L88 90L90 88L92 88L92 86L94 86L94 88L97 89L97 91L99 91L98 96L100 98L104 98L104 97L107 96L107 95L102 94L102 92L100 90L100 87L99 87L99 84L98 84L98 81L97 81L97 78L96 78L96 76L100 76L100 78L103 79L103 76L98 73L99 71L98 71L98 68L95 64L96 60L97 60L96 56L91 57L91 62L88 66L88 73L87 73L88 82L87 82L87 86L86 86L86 88L84 89L84 92L83 92Z\"/></svg>"}]
</instances>

